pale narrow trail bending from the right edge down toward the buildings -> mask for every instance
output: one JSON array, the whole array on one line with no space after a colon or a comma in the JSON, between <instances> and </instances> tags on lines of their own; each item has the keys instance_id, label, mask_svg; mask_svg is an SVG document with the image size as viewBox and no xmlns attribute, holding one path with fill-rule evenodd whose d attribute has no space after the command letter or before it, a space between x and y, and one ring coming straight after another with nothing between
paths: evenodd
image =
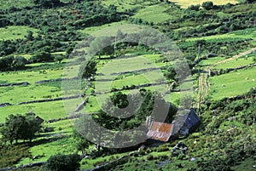
<instances>
[{"instance_id":1,"label":"pale narrow trail bending from the right edge down toward the buildings","mask_svg":"<svg viewBox=\"0 0 256 171\"><path fill-rule=\"evenodd\" d=\"M245 52L241 52L240 54L236 54L236 55L234 55L233 57L231 57L229 59L221 60L221 61L217 62L216 64L214 64L212 66L207 66L207 67L203 68L203 70L201 71L200 76L198 78L198 88L199 88L199 90L198 90L198 95L197 95L196 107L199 108L201 101L204 101L207 97L207 92L209 91L209 88L210 88L209 83L207 81L207 78L209 77L211 68L213 66L218 66L218 65L224 64L226 62L229 62L231 60L236 60L236 59L240 58L241 56L244 56L244 55L247 55L247 54L252 54L255 51L256 51L256 48L251 48L251 49L249 49Z\"/></svg>"}]
</instances>

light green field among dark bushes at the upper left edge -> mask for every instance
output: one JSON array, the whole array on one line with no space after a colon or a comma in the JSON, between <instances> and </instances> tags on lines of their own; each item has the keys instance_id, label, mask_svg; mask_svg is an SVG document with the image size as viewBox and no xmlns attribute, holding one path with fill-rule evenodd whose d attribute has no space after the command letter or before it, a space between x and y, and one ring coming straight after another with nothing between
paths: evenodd
<instances>
[{"instance_id":1,"label":"light green field among dark bushes at the upper left edge","mask_svg":"<svg viewBox=\"0 0 256 171\"><path fill-rule=\"evenodd\" d=\"M0 28L0 40L11 40L11 39L14 40L14 39L18 39L18 38L24 39L25 36L27 35L27 31L32 31L34 33L33 36L37 36L36 32L38 30L35 28L32 28L32 27L29 27L29 26L2 27L2 28Z\"/></svg>"}]
</instances>

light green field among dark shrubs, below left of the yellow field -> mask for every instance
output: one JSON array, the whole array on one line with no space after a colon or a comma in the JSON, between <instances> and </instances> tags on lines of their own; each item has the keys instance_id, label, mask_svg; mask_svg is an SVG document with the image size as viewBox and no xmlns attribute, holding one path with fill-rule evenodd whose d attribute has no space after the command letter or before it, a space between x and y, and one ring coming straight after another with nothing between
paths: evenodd
<instances>
[{"instance_id":1,"label":"light green field among dark shrubs, below left of the yellow field","mask_svg":"<svg viewBox=\"0 0 256 171\"><path fill-rule=\"evenodd\" d=\"M156 4L148 6L145 9L140 9L133 17L148 22L163 22L171 18L171 15L165 12L167 9L164 6Z\"/></svg>"}]
</instances>

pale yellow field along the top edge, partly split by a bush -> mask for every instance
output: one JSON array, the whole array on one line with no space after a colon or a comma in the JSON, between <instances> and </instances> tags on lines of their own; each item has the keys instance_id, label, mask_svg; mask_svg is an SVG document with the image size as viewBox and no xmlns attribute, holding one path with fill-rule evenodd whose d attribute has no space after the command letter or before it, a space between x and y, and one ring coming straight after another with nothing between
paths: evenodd
<instances>
[{"instance_id":1,"label":"pale yellow field along the top edge, partly split by a bush","mask_svg":"<svg viewBox=\"0 0 256 171\"><path fill-rule=\"evenodd\" d=\"M202 4L202 3L206 2L205 0L169 0L169 1L177 3L183 9L187 9L191 5L197 5L197 4ZM238 1L236 1L236 0L212 0L212 3L214 3L215 5L224 5L227 3L236 4L236 3L238 3Z\"/></svg>"}]
</instances>

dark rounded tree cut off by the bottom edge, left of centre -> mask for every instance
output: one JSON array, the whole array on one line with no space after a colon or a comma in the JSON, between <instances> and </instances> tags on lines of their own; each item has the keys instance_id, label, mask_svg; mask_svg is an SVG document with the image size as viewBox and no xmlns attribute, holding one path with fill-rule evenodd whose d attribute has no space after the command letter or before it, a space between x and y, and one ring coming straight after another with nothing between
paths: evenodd
<instances>
[{"instance_id":1,"label":"dark rounded tree cut off by the bottom edge, left of centre","mask_svg":"<svg viewBox=\"0 0 256 171\"><path fill-rule=\"evenodd\" d=\"M78 154L56 154L45 163L46 171L76 171L80 168L81 157Z\"/></svg>"}]
</instances>

